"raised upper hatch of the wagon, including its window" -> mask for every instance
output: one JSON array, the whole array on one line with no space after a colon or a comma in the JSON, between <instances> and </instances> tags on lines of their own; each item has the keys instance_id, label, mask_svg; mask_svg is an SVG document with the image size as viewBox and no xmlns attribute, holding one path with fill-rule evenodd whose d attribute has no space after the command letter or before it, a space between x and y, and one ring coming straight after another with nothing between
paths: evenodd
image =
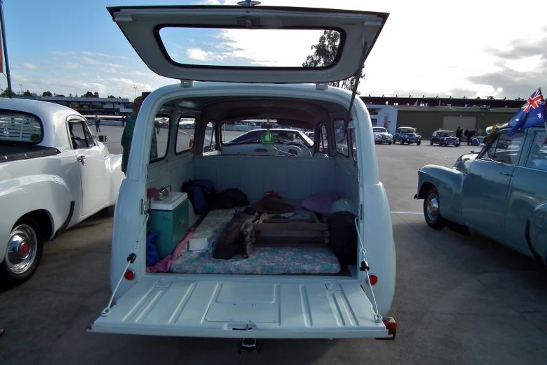
<instances>
[{"instance_id":1,"label":"raised upper hatch of the wagon, including its window","mask_svg":"<svg viewBox=\"0 0 547 365\"><path fill-rule=\"evenodd\" d=\"M143 62L168 78L234 83L327 83L358 70L387 13L272 6L108 8ZM309 59L324 31L334 58ZM365 57L366 58L366 57Z\"/></svg>"}]
</instances>

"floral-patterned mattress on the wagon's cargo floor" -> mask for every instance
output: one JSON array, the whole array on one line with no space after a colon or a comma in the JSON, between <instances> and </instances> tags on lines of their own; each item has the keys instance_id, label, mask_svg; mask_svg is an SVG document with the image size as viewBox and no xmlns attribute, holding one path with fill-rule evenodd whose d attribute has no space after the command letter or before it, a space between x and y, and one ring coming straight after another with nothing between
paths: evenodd
<instances>
[{"instance_id":1,"label":"floral-patterned mattress on the wagon's cargo floor","mask_svg":"<svg viewBox=\"0 0 547 365\"><path fill-rule=\"evenodd\" d=\"M300 208L301 209L301 208ZM309 211L295 210L294 218L309 217ZM194 230L192 238L208 238L212 246L236 209L213 210ZM181 252L170 265L173 273L217 274L335 274L340 272L340 262L328 247L255 247L251 257L234 255L231 259L213 259L212 253Z\"/></svg>"}]
</instances>

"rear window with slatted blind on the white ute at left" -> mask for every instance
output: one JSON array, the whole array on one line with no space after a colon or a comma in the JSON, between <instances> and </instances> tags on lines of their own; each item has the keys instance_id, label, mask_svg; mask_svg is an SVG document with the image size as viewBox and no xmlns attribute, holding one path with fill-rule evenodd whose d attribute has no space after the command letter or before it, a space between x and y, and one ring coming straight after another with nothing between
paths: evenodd
<instances>
[{"instance_id":1,"label":"rear window with slatted blind on the white ute at left","mask_svg":"<svg viewBox=\"0 0 547 365\"><path fill-rule=\"evenodd\" d=\"M0 141L40 143L42 122L35 115L0 110Z\"/></svg>"}]
</instances>

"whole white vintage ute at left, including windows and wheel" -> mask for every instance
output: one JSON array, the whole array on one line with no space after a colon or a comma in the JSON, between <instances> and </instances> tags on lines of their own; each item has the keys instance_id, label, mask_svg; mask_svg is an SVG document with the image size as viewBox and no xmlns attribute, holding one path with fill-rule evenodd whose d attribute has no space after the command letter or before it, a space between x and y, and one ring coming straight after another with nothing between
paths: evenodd
<instances>
[{"instance_id":1,"label":"whole white vintage ute at left, including windows and wheel","mask_svg":"<svg viewBox=\"0 0 547 365\"><path fill-rule=\"evenodd\" d=\"M85 117L46 101L0 99L0 285L31 278L43 241L108 208L124 179Z\"/></svg>"}]
</instances>

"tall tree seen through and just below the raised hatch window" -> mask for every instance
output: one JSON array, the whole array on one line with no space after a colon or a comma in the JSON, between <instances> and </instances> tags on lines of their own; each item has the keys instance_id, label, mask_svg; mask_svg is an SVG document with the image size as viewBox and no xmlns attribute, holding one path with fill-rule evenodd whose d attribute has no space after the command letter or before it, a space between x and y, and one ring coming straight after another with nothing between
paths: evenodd
<instances>
[{"instance_id":1,"label":"tall tree seen through and just below the raised hatch window","mask_svg":"<svg viewBox=\"0 0 547 365\"><path fill-rule=\"evenodd\" d=\"M323 31L323 35L319 37L319 43L312 45L311 47L314 52L312 55L306 57L306 62L304 62L302 66L319 67L332 64L338 52L339 43L340 34L337 31ZM365 78L364 66L360 74L360 79L362 78ZM355 85L355 76L351 76L351 78L347 78L346 80L334 81L333 83L328 83L328 85L353 90ZM360 93L357 92L357 94Z\"/></svg>"}]
</instances>

